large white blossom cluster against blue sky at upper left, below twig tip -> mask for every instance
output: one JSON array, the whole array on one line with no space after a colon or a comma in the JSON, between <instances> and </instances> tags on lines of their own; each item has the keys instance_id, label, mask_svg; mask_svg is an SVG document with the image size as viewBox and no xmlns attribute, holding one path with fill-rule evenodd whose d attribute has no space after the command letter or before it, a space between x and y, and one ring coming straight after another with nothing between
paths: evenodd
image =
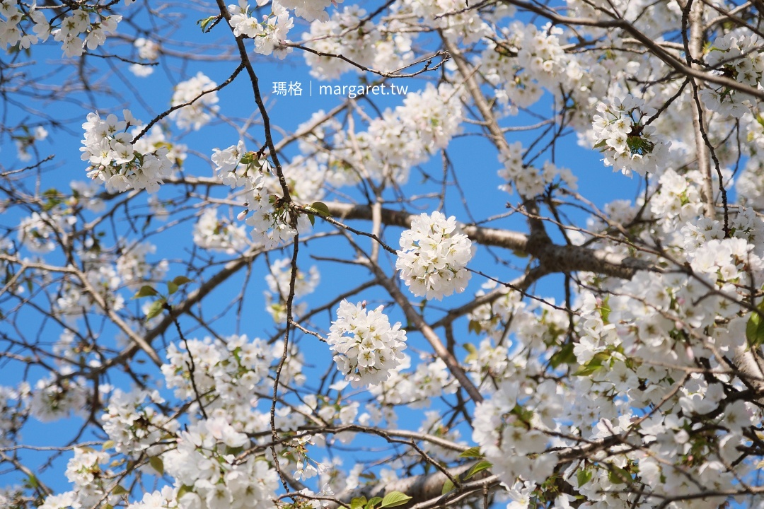
<instances>
[{"instance_id":1,"label":"large white blossom cluster against blue sky at upper left, below twig tip","mask_svg":"<svg viewBox=\"0 0 764 509\"><path fill-rule=\"evenodd\" d=\"M105 120L99 114L89 113L83 124L85 139L80 151L83 161L90 163L88 176L100 179L108 192L128 189L146 189L157 192L164 178L171 175L172 163L167 158L167 147L141 153L133 144L128 127L141 125L130 110L123 110L124 120L109 114Z\"/></svg>"}]
</instances>

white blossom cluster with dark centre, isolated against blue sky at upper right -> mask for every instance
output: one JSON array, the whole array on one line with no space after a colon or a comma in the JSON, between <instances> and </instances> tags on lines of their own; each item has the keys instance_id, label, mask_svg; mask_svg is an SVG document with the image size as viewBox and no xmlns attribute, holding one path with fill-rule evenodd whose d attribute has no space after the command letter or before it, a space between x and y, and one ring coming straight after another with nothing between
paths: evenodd
<instances>
[{"instance_id":1,"label":"white blossom cluster with dark centre, isolated against blue sky at upper right","mask_svg":"<svg viewBox=\"0 0 764 509\"><path fill-rule=\"evenodd\" d=\"M605 166L613 166L623 175L636 172L641 176L656 173L665 163L669 143L656 136L656 127L646 125L656 114L645 101L633 95L613 98L610 105L597 105L600 114L594 115L592 127L596 142L594 148L604 153Z\"/></svg>"}]
</instances>

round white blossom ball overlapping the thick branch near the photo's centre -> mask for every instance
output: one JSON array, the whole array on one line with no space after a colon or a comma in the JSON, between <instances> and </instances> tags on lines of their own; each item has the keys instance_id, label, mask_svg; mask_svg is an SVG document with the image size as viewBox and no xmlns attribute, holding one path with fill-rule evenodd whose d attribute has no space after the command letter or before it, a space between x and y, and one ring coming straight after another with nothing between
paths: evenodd
<instances>
[{"instance_id":1,"label":"round white blossom ball overlapping the thick branch near the photo's centre","mask_svg":"<svg viewBox=\"0 0 764 509\"><path fill-rule=\"evenodd\" d=\"M414 295L440 301L465 291L471 276L466 266L474 253L471 240L459 231L454 216L446 219L435 211L419 214L400 235L395 266Z\"/></svg>"}]
</instances>

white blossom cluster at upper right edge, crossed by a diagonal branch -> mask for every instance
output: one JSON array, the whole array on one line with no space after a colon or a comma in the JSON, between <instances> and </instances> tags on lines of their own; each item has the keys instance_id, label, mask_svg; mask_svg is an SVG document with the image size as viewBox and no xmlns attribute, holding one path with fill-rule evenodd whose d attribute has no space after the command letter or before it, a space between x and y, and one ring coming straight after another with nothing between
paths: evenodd
<instances>
[{"instance_id":1,"label":"white blossom cluster at upper right edge, crossed by a diagonal branch","mask_svg":"<svg viewBox=\"0 0 764 509\"><path fill-rule=\"evenodd\" d=\"M711 69L721 76L727 76L756 90L762 82L764 72L764 53L760 52L760 49L759 37L747 37L732 32L714 40L705 60ZM700 97L706 108L734 118L740 118L749 111L746 103L756 103L753 97L744 92L712 83L701 90Z\"/></svg>"}]
</instances>

